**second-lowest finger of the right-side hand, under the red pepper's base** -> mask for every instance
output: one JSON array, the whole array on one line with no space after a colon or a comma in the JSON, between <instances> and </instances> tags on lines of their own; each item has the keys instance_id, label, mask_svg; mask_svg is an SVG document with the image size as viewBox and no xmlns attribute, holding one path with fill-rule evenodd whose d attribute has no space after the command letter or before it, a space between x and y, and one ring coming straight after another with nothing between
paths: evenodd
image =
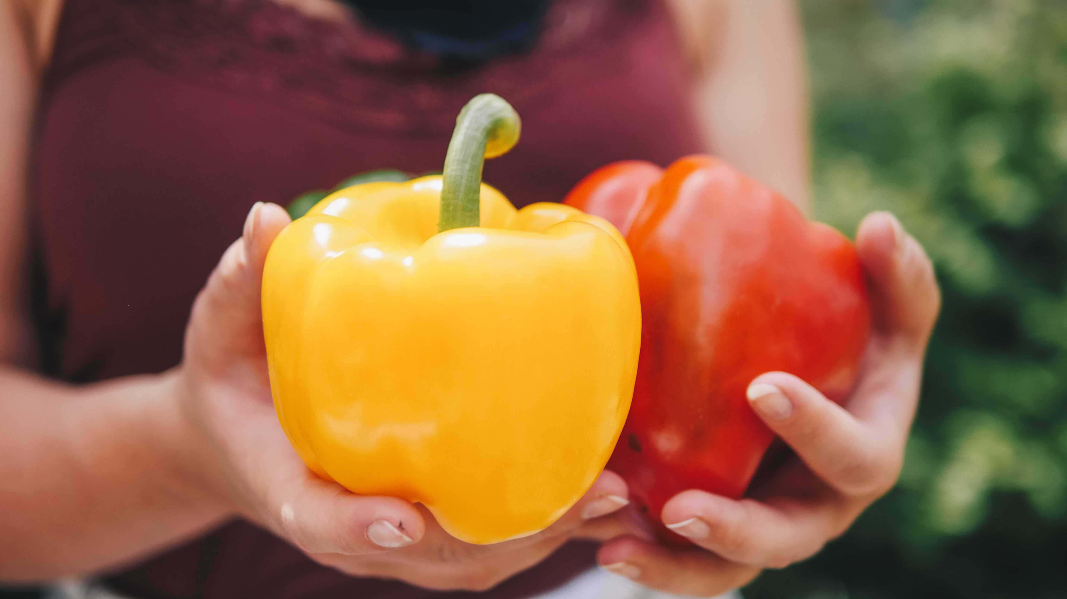
<instances>
[{"instance_id":1,"label":"second-lowest finger of the right-side hand, under the red pepper's base","mask_svg":"<svg viewBox=\"0 0 1067 599\"><path fill-rule=\"evenodd\" d=\"M726 560L784 568L840 534L845 512L848 504L829 493L771 505L687 490L664 505L662 518L668 529Z\"/></svg>"}]
</instances>

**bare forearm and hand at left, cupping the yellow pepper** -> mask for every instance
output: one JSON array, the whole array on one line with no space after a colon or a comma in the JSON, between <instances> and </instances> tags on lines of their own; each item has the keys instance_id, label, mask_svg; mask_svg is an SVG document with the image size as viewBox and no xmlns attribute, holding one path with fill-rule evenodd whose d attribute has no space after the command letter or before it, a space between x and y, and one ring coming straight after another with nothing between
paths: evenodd
<instances>
[{"instance_id":1,"label":"bare forearm and hand at left, cupping the yellow pepper","mask_svg":"<svg viewBox=\"0 0 1067 599\"><path fill-rule=\"evenodd\" d=\"M162 374L71 387L6 368L0 451L0 580L109 568L240 516L353 576L483 589L626 503L606 472L547 530L461 543L419 506L315 476L282 433L267 375L259 289L289 223L257 204L197 296L182 362Z\"/></svg>"}]
</instances>

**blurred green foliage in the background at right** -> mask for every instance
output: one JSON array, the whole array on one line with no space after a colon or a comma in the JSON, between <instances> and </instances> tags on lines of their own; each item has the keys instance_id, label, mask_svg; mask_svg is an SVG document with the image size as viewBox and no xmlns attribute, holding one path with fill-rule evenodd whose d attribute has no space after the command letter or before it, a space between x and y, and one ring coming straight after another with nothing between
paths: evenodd
<instances>
[{"instance_id":1,"label":"blurred green foliage in the background at right","mask_svg":"<svg viewBox=\"0 0 1067 599\"><path fill-rule=\"evenodd\" d=\"M748 599L1067 597L1067 2L811 0L815 212L944 304L899 485Z\"/></svg>"}]
</instances>

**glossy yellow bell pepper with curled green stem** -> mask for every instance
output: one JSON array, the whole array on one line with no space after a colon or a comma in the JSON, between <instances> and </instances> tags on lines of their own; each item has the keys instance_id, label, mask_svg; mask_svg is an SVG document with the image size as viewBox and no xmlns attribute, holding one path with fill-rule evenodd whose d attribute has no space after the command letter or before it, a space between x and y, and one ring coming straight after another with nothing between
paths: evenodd
<instances>
[{"instance_id":1,"label":"glossy yellow bell pepper with curled green stem","mask_svg":"<svg viewBox=\"0 0 1067 599\"><path fill-rule=\"evenodd\" d=\"M640 344L619 232L481 183L483 157L517 136L507 102L476 97L443 176L333 193L264 271L274 405L307 466L477 544L543 530L592 485Z\"/></svg>"}]
</instances>

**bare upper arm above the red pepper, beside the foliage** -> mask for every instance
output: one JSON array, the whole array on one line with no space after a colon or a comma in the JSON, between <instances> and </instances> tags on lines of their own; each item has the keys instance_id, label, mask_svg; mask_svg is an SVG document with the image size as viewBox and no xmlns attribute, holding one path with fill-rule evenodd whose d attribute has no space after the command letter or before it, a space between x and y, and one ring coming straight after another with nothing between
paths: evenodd
<instances>
[{"instance_id":1,"label":"bare upper arm above the red pepper, beside the foliage","mask_svg":"<svg viewBox=\"0 0 1067 599\"><path fill-rule=\"evenodd\" d=\"M706 22L697 43L705 46L696 103L708 148L807 210L808 79L796 3L719 0L701 6L699 18Z\"/></svg>"}]
</instances>

